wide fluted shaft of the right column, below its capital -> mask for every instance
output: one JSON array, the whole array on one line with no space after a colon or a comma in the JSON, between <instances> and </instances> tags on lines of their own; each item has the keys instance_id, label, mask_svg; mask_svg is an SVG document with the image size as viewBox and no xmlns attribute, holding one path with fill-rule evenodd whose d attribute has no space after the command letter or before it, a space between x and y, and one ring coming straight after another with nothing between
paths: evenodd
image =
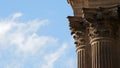
<instances>
[{"instance_id":1,"label":"wide fluted shaft of the right column, below its capital","mask_svg":"<svg viewBox=\"0 0 120 68\"><path fill-rule=\"evenodd\" d=\"M91 42L92 68L112 68L112 40L98 38Z\"/></svg>"}]
</instances>

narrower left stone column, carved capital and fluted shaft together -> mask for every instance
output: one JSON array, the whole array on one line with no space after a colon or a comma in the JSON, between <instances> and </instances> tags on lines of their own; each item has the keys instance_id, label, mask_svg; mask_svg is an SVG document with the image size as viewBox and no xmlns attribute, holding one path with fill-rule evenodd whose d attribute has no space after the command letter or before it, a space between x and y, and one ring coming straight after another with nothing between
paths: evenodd
<instances>
[{"instance_id":1,"label":"narrower left stone column, carved capital and fluted shaft together","mask_svg":"<svg viewBox=\"0 0 120 68\"><path fill-rule=\"evenodd\" d=\"M86 27L81 17L68 17L70 30L76 44L78 68L86 66Z\"/></svg>"}]
</instances>

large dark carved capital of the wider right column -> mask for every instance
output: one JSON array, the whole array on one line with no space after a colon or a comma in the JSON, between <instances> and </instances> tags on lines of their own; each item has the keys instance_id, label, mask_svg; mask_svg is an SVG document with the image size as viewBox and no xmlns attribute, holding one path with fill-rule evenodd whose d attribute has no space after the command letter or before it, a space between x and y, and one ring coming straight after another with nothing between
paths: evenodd
<instances>
[{"instance_id":1,"label":"large dark carved capital of the wider right column","mask_svg":"<svg viewBox=\"0 0 120 68\"><path fill-rule=\"evenodd\" d=\"M99 37L116 37L120 25L120 7L83 8L85 19L89 24L90 39Z\"/></svg>"}]
</instances>

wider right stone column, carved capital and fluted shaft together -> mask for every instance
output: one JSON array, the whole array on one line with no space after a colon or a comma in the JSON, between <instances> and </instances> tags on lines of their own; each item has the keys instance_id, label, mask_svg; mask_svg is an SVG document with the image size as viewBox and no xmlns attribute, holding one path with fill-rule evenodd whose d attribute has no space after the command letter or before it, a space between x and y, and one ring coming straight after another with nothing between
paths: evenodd
<instances>
[{"instance_id":1,"label":"wider right stone column, carved capital and fluted shaft together","mask_svg":"<svg viewBox=\"0 0 120 68\"><path fill-rule=\"evenodd\" d=\"M83 9L89 23L92 68L113 68L116 37L117 7Z\"/></svg>"}]
</instances>

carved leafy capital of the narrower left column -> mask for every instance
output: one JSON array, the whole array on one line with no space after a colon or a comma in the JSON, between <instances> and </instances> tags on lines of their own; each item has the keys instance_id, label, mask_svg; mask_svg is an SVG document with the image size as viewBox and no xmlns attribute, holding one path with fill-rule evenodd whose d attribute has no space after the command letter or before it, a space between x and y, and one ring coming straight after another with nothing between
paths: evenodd
<instances>
[{"instance_id":1,"label":"carved leafy capital of the narrower left column","mask_svg":"<svg viewBox=\"0 0 120 68\"><path fill-rule=\"evenodd\" d=\"M71 35L75 40L76 50L84 49L86 46L86 23L85 19L78 16L69 16Z\"/></svg>"}]
</instances>

